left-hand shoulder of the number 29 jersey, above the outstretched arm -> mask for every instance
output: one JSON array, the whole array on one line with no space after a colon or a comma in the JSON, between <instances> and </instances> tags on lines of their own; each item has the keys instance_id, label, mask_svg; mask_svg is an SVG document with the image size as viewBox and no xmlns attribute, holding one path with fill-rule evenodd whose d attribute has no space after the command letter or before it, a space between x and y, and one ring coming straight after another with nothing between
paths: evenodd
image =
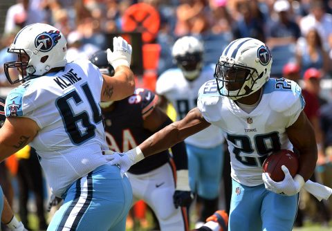
<instances>
[{"instance_id":1,"label":"left-hand shoulder of the number 29 jersey, above the outstretched arm","mask_svg":"<svg viewBox=\"0 0 332 231\"><path fill-rule=\"evenodd\" d=\"M209 80L199 89L197 108L208 122L219 120L221 113L221 95L216 89L216 81Z\"/></svg>"}]
</instances>

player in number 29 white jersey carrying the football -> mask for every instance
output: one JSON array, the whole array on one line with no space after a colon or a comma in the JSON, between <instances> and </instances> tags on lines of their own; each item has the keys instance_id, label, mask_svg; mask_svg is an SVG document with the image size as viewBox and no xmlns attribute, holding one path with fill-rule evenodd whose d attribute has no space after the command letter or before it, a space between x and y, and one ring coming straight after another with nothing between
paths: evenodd
<instances>
[{"instance_id":1,"label":"player in number 29 white jersey carrying the football","mask_svg":"<svg viewBox=\"0 0 332 231\"><path fill-rule=\"evenodd\" d=\"M228 230L292 230L299 190L315 170L317 145L303 112L301 88L291 80L270 78L272 62L263 42L250 37L232 41L216 64L215 80L201 86L197 107L183 120L125 154L105 158L125 172L133 163L214 124L222 129L231 155ZM280 182L262 174L261 165L271 151L293 147L300 154L294 178L286 167Z\"/></svg>"}]
</instances>

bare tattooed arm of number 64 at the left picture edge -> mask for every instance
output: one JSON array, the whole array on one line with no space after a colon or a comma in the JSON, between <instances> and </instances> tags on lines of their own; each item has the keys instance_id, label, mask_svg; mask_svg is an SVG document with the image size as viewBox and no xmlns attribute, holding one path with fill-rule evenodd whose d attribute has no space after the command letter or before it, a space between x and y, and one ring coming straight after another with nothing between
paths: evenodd
<instances>
[{"instance_id":1,"label":"bare tattooed arm of number 64 at the left picture edge","mask_svg":"<svg viewBox=\"0 0 332 231\"><path fill-rule=\"evenodd\" d=\"M0 162L28 145L35 138L39 127L25 117L8 117L0 129Z\"/></svg>"}]
</instances>

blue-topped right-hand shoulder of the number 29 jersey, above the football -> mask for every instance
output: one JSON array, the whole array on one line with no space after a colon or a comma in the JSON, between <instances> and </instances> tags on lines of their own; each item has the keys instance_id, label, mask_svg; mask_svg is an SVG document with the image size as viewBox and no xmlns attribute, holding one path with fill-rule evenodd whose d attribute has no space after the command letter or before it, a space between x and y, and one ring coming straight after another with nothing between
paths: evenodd
<instances>
[{"instance_id":1,"label":"blue-topped right-hand shoulder of the number 29 jersey, above the football","mask_svg":"<svg viewBox=\"0 0 332 231\"><path fill-rule=\"evenodd\" d=\"M284 112L291 115L296 111L303 110L305 106L301 87L292 80L284 78L272 79L268 83L268 88L272 90L270 108L274 111ZM267 89L268 89L267 88ZM264 89L264 93L266 89Z\"/></svg>"}]
</instances>

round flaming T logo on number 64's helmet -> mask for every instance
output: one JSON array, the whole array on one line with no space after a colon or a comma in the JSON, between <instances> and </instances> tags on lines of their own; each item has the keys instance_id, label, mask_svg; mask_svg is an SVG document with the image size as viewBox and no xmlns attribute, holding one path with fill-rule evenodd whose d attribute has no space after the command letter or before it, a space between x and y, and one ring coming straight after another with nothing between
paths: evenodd
<instances>
[{"instance_id":1,"label":"round flaming T logo on number 64's helmet","mask_svg":"<svg viewBox=\"0 0 332 231\"><path fill-rule=\"evenodd\" d=\"M40 44L42 44L42 47L39 50L42 52L47 52L57 44L57 40L60 38L61 35L59 30L43 32L42 34L37 35L35 39L35 46L38 47Z\"/></svg>"}]
</instances>

